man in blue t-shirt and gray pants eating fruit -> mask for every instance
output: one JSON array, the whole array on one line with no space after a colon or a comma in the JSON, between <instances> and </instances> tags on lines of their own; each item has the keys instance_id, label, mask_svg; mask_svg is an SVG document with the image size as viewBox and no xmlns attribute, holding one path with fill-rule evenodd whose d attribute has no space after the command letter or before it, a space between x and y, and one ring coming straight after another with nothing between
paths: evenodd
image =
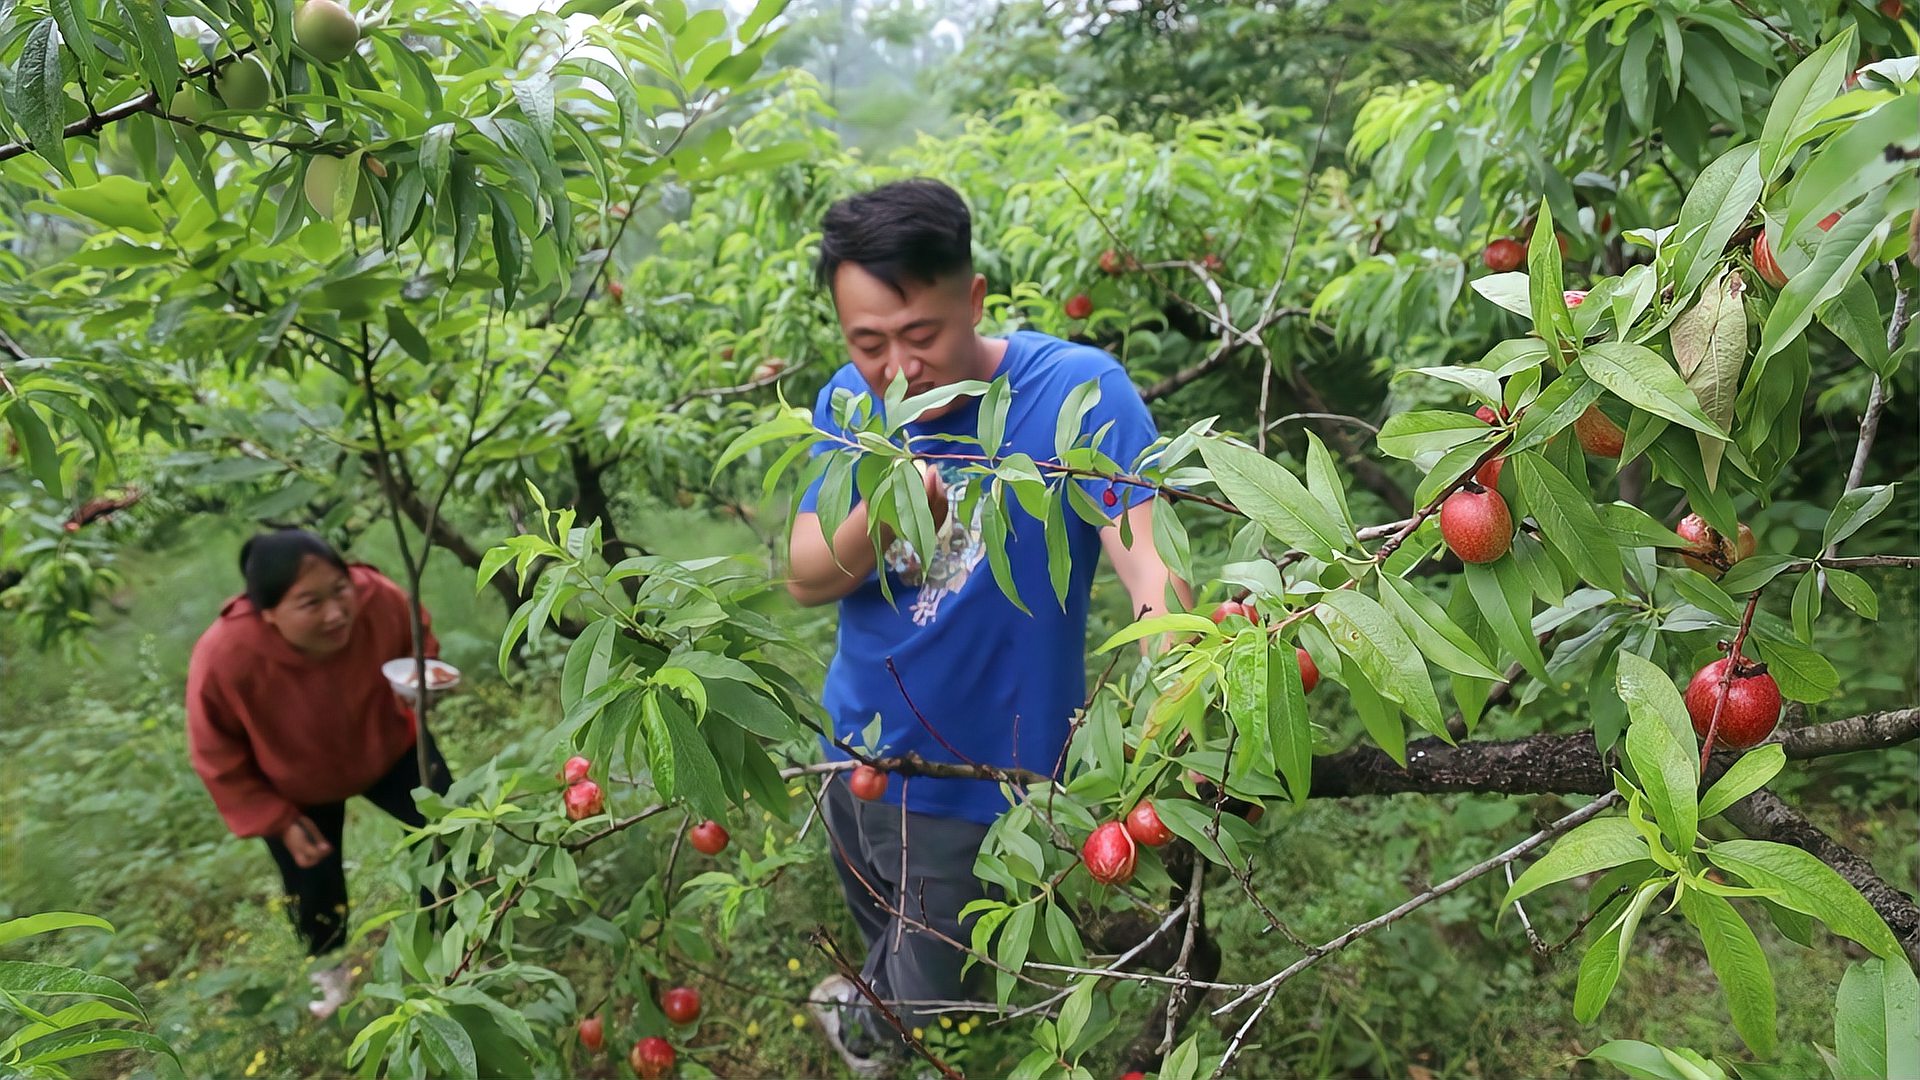
<instances>
[{"instance_id":1,"label":"man in blue t-shirt and gray pants eating fruit","mask_svg":"<svg viewBox=\"0 0 1920 1080\"><path fill-rule=\"evenodd\" d=\"M1104 550L1137 615L1165 611L1169 588L1181 605L1192 596L1154 550L1154 500L1146 488L1106 480L1083 484L1114 525L1096 528L1064 507L1071 552L1066 601L1048 575L1041 519L1006 500L1008 569L1027 611L1000 590L987 565L981 525L958 521L964 473L943 454L1056 457L1056 427L1075 388L1096 382L1098 402L1081 434L1123 469L1158 436L1154 421L1106 352L1039 332L979 334L987 279L973 273L972 217L960 196L937 181L900 181L847 198L822 225L820 284L831 288L852 352L820 390L814 425L841 434L835 392L866 396L879 409L887 386L904 377L908 396L962 380L1006 379L1010 405L996 448L956 442L979 432L981 400L956 398L906 427L935 509L935 552L914 552L883 528L891 600L879 584L868 509L854 492L851 513L820 534L822 480L803 496L791 534L787 590L806 605L839 603L839 642L828 669L824 705L835 736L849 746L879 717L879 755L920 753L927 761L1020 767L1052 774L1068 728L1087 694L1087 601ZM831 450L822 442L814 454ZM1066 498L1064 490L1058 498ZM847 507L841 507L847 509ZM1121 542L1125 515L1131 546ZM889 667L891 661L891 667ZM918 715L916 715L918 709ZM829 759L847 755L824 740ZM948 942L968 942L960 909L983 896L973 857L987 826L1008 809L993 780L893 776L876 801L852 798L847 774L826 786L826 824L841 888L864 938L862 978L908 1026L933 1001L964 997L966 959ZM902 813L904 801L904 813ZM902 834L904 826L904 834ZM902 880L904 847L904 880ZM904 919L902 919L904 917ZM929 932L931 928L933 932ZM879 1068L899 1049L854 986L839 976L814 994L814 1015L856 1072Z\"/></svg>"}]
</instances>

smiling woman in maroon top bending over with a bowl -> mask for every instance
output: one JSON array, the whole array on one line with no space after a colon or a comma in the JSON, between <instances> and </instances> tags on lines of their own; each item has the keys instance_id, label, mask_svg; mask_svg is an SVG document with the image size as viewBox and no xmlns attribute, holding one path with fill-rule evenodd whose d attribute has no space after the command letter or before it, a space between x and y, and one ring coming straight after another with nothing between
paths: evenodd
<instances>
[{"instance_id":1,"label":"smiling woman in maroon top bending over with a bowl","mask_svg":"<svg viewBox=\"0 0 1920 1080\"><path fill-rule=\"evenodd\" d=\"M413 655L413 621L397 584L300 528L248 540L240 573L246 592L221 607L188 663L188 749L234 836L267 842L294 926L321 957L346 944L348 798L426 824L413 805L419 723L380 675L380 663ZM428 630L426 655L438 653ZM430 788L444 794L451 780L432 736L426 757ZM338 965L313 982L321 999L309 1009L328 1017L351 976Z\"/></svg>"}]
</instances>

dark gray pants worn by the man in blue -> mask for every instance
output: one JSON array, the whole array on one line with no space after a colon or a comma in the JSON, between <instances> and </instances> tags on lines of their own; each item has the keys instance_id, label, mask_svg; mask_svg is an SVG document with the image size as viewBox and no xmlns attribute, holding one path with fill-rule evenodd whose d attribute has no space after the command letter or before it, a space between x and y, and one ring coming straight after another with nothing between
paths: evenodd
<instances>
[{"instance_id":1,"label":"dark gray pants worn by the man in blue","mask_svg":"<svg viewBox=\"0 0 1920 1080\"><path fill-rule=\"evenodd\" d=\"M973 855L987 838L987 826L908 813L902 844L900 807L856 799L847 790L845 773L826 784L824 801L833 869L866 945L860 978L887 1001L966 999L960 980L966 953L914 924L924 922L954 942L970 942L973 919L962 926L960 909L985 896L985 886L973 876ZM900 888L902 846L906 888ZM876 892L885 897L885 905L874 897ZM904 913L910 922L902 922L889 907ZM899 1005L895 1013L908 1028L927 1022L922 1007ZM879 1026L885 1030L883 1020Z\"/></svg>"}]
</instances>

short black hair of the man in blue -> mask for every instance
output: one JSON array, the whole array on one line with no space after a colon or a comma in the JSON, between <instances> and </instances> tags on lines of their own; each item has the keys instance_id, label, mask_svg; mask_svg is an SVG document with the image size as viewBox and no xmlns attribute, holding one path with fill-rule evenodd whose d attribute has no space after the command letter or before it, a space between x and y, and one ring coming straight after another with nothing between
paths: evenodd
<instances>
[{"instance_id":1,"label":"short black hair of the man in blue","mask_svg":"<svg viewBox=\"0 0 1920 1080\"><path fill-rule=\"evenodd\" d=\"M973 215L960 192L925 177L843 198L820 223L814 281L833 288L841 263L904 296L902 282L933 284L973 267Z\"/></svg>"}]
</instances>

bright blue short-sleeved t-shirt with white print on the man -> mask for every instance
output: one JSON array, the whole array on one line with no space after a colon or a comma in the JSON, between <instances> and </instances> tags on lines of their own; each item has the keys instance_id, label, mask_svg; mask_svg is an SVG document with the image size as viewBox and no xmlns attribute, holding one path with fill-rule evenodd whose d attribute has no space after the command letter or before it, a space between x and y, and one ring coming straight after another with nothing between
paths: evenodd
<instances>
[{"instance_id":1,"label":"bright blue short-sleeved t-shirt with white print on the man","mask_svg":"<svg viewBox=\"0 0 1920 1080\"><path fill-rule=\"evenodd\" d=\"M1004 377L1010 390L1006 438L998 448L1002 457L1027 454L1035 461L1056 459L1054 429L1066 400L1075 386L1094 379L1100 382L1100 400L1081 421L1083 436L1112 425L1100 436L1098 450L1121 469L1131 467L1158 438L1154 419L1127 371L1098 348L1021 331L1008 338L1006 357L995 377ZM820 390L814 427L841 434L833 417L835 388L866 394L870 400L872 390L851 363ZM908 425L906 430L916 436L916 454L977 455L979 446L939 436L977 436L979 398L945 417ZM831 446L822 442L814 454ZM962 484L979 475L968 475L952 461L943 461L941 473L948 484L948 505L958 511ZM816 480L801 496L803 511L816 509L822 482ZM1083 484L1114 519L1152 498L1146 488L1119 484L1114 488L1116 505L1108 507L1106 480L1073 482ZM956 513L948 515L929 565L922 565L904 538L887 550L881 569L889 575L893 600L881 592L876 571L839 601L839 640L822 694L839 738L858 746L860 732L879 715L881 753L916 751L927 761L972 759L1054 773L1068 726L1087 696L1087 601L1100 557L1100 532L1071 507L1064 509L1073 555L1064 609L1048 577L1043 525L1012 494L1006 498L1006 555L1014 588L1031 615L1014 607L1000 592L977 521L968 527L954 521ZM964 757L941 746L914 717L887 671L889 657L927 724ZM829 759L847 757L826 740L822 744ZM887 786L887 801L899 803L902 790L910 811L981 824L1008 807L993 780L902 776Z\"/></svg>"}]
</instances>

